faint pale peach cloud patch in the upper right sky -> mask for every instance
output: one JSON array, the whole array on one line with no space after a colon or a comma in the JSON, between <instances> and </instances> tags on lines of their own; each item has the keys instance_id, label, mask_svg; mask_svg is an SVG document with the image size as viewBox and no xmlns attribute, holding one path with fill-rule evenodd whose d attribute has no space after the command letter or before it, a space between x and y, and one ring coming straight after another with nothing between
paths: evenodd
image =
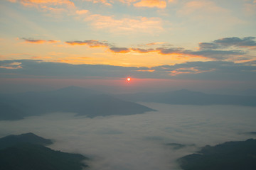
<instances>
[{"instance_id":1,"label":"faint pale peach cloud patch in the upper right sky","mask_svg":"<svg viewBox=\"0 0 256 170\"><path fill-rule=\"evenodd\" d=\"M235 17L228 8L209 0L186 1L176 14L191 26L196 23L196 27L202 30L229 30L233 26L245 24L245 21Z\"/></svg>"}]
</instances>

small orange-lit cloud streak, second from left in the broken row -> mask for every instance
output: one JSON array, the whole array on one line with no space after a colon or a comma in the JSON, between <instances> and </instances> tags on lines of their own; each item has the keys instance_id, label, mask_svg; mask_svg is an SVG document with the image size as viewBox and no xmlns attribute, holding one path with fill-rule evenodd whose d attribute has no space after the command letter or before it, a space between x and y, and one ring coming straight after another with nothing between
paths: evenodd
<instances>
[{"instance_id":1,"label":"small orange-lit cloud streak, second from left in the broken row","mask_svg":"<svg viewBox=\"0 0 256 170\"><path fill-rule=\"evenodd\" d=\"M110 47L110 43L104 41L101 42L99 40L75 40L75 41L66 41L68 45L88 45L89 47Z\"/></svg>"}]
</instances>

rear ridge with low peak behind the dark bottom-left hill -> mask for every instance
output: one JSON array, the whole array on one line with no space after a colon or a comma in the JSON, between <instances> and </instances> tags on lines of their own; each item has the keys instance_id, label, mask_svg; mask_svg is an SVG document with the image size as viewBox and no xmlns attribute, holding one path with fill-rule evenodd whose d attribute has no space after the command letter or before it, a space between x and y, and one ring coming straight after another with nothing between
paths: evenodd
<instances>
[{"instance_id":1,"label":"rear ridge with low peak behind the dark bottom-left hill","mask_svg":"<svg viewBox=\"0 0 256 170\"><path fill-rule=\"evenodd\" d=\"M43 137L39 137L33 133L24 133L21 135L9 135L6 137L0 138L0 149L11 147L18 143L25 142L36 145L50 145L53 144L51 140L46 140Z\"/></svg>"}]
</instances>

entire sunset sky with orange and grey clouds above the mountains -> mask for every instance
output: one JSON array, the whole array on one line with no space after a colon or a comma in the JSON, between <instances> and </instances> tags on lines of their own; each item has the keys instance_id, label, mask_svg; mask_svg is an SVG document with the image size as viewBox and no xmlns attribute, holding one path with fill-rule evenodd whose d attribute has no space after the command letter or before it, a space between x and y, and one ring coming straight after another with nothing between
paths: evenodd
<instances>
[{"instance_id":1,"label":"entire sunset sky with orange and grey clouds above the mountains","mask_svg":"<svg viewBox=\"0 0 256 170\"><path fill-rule=\"evenodd\" d=\"M3 0L1 91L255 89L255 16L255 0Z\"/></svg>"}]
</instances>

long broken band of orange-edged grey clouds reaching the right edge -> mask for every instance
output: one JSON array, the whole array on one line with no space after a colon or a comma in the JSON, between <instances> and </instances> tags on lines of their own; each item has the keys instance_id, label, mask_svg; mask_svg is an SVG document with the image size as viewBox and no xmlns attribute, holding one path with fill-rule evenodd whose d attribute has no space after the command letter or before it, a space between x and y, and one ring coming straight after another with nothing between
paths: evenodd
<instances>
[{"instance_id":1,"label":"long broken band of orange-edged grey clouds reaching the right edge","mask_svg":"<svg viewBox=\"0 0 256 170\"><path fill-rule=\"evenodd\" d=\"M229 49L229 47L247 47L253 50L255 48L255 38L220 38L213 42L200 42L198 50L187 50L183 47L172 47L166 42L151 42L139 47L116 47L112 43L100 40L75 40L67 41L69 45L88 45L89 47L107 47L110 52L114 53L150 53L157 52L160 55L176 55L179 58L203 58L205 60L231 60L243 61L252 60L254 57L247 55L247 51L240 49ZM155 46L155 47L151 47ZM142 48L144 47L144 48ZM146 48L150 47L150 48Z\"/></svg>"}]
</instances>

